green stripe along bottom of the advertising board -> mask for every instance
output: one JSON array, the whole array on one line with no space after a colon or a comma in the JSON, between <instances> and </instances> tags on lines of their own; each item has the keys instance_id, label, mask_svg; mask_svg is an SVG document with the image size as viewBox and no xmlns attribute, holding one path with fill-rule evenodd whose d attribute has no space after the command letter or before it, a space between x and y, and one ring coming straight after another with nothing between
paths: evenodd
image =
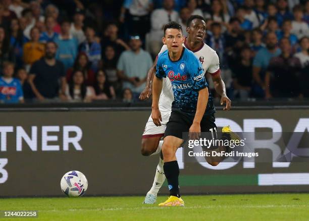
<instances>
[{"instance_id":1,"label":"green stripe along bottom of the advertising board","mask_svg":"<svg viewBox=\"0 0 309 221\"><path fill-rule=\"evenodd\" d=\"M193 186L258 186L257 174L234 175L180 175L182 187ZM167 182L164 183L167 186Z\"/></svg>"}]
</instances>

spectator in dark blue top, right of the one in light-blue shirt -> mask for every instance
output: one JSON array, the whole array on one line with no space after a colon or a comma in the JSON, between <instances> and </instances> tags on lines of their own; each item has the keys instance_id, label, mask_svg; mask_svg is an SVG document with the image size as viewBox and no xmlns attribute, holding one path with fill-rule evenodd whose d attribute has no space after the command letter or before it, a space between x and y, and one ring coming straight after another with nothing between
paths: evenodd
<instances>
[{"instance_id":1,"label":"spectator in dark blue top, right of the one in light-blue shirt","mask_svg":"<svg viewBox=\"0 0 309 221\"><path fill-rule=\"evenodd\" d=\"M96 72L101 60L101 45L95 40L95 31L92 27L86 27L86 40L79 46L79 51L86 53L91 62L91 69Z\"/></svg>"}]
</instances>

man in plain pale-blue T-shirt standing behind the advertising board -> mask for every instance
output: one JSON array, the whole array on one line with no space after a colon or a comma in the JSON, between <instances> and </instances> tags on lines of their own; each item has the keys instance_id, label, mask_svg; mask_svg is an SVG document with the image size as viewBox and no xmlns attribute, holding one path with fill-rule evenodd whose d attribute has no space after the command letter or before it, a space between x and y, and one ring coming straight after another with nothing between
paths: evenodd
<instances>
[{"instance_id":1,"label":"man in plain pale-blue T-shirt standing behind the advertising board","mask_svg":"<svg viewBox=\"0 0 309 221\"><path fill-rule=\"evenodd\" d=\"M150 54L141 49L139 36L131 36L131 50L123 52L119 58L117 69L123 86L131 89L138 96L145 87L146 73L153 65Z\"/></svg>"}]
</instances>

